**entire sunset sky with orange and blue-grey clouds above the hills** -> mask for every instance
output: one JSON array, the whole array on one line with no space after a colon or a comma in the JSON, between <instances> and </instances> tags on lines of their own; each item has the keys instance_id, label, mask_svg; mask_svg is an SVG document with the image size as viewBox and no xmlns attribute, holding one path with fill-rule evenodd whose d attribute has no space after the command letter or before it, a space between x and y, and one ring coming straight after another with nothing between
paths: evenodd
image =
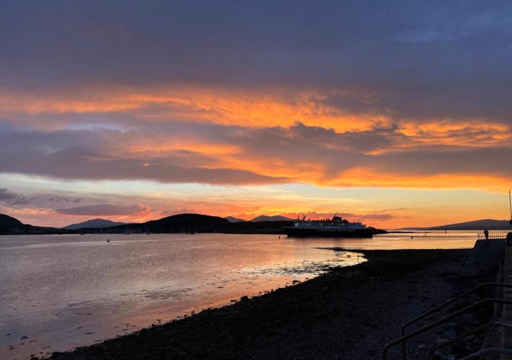
<instances>
[{"instance_id":1,"label":"entire sunset sky with orange and blue-grey clouds above the hills","mask_svg":"<svg viewBox=\"0 0 512 360\"><path fill-rule=\"evenodd\" d=\"M25 223L509 217L508 1L20 0L0 49Z\"/></svg>"}]
</instances>

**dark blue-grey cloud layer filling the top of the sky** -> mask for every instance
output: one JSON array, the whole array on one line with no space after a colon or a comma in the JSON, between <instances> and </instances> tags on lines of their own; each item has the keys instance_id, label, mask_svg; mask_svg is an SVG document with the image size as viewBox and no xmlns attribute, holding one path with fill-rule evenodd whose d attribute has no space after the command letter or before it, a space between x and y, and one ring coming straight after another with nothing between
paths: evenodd
<instances>
[{"instance_id":1,"label":"dark blue-grey cloud layer filling the top of the sky","mask_svg":"<svg viewBox=\"0 0 512 360\"><path fill-rule=\"evenodd\" d=\"M506 121L511 35L506 1L4 2L0 76L31 91L360 89L379 101L339 105Z\"/></svg>"}]
</instances>

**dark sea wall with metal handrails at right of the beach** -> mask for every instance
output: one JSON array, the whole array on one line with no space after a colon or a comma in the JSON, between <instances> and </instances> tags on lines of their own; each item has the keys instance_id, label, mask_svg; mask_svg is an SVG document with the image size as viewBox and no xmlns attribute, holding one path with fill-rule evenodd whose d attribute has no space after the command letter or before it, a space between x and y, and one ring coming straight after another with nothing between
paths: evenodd
<instances>
[{"instance_id":1,"label":"dark sea wall with metal handrails at right of the beach","mask_svg":"<svg viewBox=\"0 0 512 360\"><path fill-rule=\"evenodd\" d=\"M512 224L512 220L511 220ZM401 327L401 336L388 343L382 352L384 360L391 359L390 350L394 347L401 347L403 360L407 360L412 349L408 347L414 337L425 332L432 331L439 327L450 328L452 335L443 339L438 344L430 344L428 359L499 359L512 360L512 246L507 238L511 238L512 233L507 232L482 232L478 234L477 240L470 256L468 256L462 273L467 276L489 271L492 268L498 268L496 281L482 282L477 286L459 293L452 299L425 311L414 319L410 319ZM476 297L476 294L483 294ZM475 319L475 316L482 311L482 308L493 306L494 312L491 319L485 324L475 325L472 328L464 327L463 330L455 331L455 321L464 317L465 319ZM415 328L414 325L420 324L420 321L428 321L426 325ZM424 323L423 323L424 324ZM460 349L464 343L475 338L476 334L484 336L483 345L473 349L469 354L463 357L454 357L442 353L442 350ZM469 339L469 340L468 340Z\"/></svg>"}]
</instances>

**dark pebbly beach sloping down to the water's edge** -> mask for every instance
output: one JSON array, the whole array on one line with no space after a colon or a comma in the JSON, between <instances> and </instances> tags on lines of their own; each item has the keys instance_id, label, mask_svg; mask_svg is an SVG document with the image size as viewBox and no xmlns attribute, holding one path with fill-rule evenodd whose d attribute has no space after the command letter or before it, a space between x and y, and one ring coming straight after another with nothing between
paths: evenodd
<instances>
[{"instance_id":1,"label":"dark pebbly beach sloping down to the water's edge","mask_svg":"<svg viewBox=\"0 0 512 360\"><path fill-rule=\"evenodd\" d=\"M380 358L400 324L477 282L495 280L459 273L469 249L351 251L369 261L51 358ZM423 343L437 336L412 341L411 358L424 358Z\"/></svg>"}]
</instances>

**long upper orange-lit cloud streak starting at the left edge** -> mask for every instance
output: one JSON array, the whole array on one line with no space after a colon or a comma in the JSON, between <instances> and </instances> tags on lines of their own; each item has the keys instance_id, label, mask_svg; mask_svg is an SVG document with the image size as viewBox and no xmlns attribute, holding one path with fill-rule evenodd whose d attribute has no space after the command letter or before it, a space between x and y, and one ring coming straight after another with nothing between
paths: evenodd
<instances>
[{"instance_id":1,"label":"long upper orange-lit cloud streak starting at the left edge","mask_svg":"<svg viewBox=\"0 0 512 360\"><path fill-rule=\"evenodd\" d=\"M65 94L13 94L0 91L0 114L130 113L143 121L174 119L239 125L249 128L283 126L300 121L337 132L364 131L391 123L383 114L353 114L323 103L329 93L260 92L206 88L140 91L94 88ZM46 124L48 126L48 124Z\"/></svg>"}]
</instances>

